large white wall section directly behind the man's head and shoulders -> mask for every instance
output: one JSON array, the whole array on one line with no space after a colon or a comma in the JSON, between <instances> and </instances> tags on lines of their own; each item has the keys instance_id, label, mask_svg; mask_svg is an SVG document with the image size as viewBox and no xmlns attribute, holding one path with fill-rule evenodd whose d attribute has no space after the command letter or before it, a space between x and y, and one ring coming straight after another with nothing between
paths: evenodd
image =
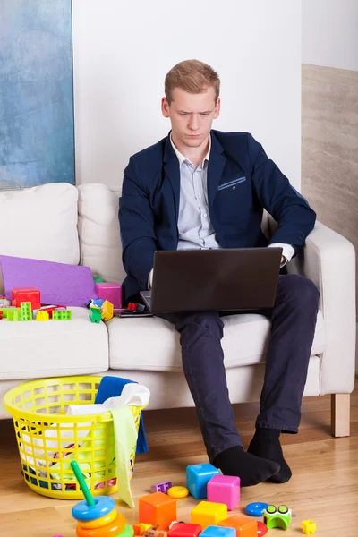
<instances>
[{"instance_id":1,"label":"large white wall section directly behind the man's head and shoulders","mask_svg":"<svg viewBox=\"0 0 358 537\"><path fill-rule=\"evenodd\" d=\"M122 183L170 129L166 72L198 58L222 81L214 128L251 132L300 188L301 2L74 0L73 47L77 183Z\"/></svg>"}]
</instances>

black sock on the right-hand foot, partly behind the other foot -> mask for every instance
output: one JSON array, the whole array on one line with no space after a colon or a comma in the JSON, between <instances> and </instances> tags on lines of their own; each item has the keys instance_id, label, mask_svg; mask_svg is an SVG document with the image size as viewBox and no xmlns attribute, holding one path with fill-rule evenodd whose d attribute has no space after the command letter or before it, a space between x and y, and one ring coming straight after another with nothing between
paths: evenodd
<instances>
[{"instance_id":1,"label":"black sock on the right-hand foot, partly behind the other foot","mask_svg":"<svg viewBox=\"0 0 358 537\"><path fill-rule=\"evenodd\" d=\"M269 481L286 483L290 479L292 472L282 453L282 447L279 441L280 432L278 429L264 429L259 427L253 439L251 439L248 452L278 463L280 465L280 471L271 476Z\"/></svg>"}]
</instances>

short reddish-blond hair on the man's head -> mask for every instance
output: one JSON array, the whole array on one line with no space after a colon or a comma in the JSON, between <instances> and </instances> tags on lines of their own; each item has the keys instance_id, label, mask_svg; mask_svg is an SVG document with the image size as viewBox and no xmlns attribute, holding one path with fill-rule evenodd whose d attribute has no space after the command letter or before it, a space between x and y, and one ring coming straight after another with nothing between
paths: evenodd
<instances>
[{"instance_id":1,"label":"short reddish-blond hair on the man's head","mask_svg":"<svg viewBox=\"0 0 358 537\"><path fill-rule=\"evenodd\" d=\"M167 74L165 81L166 100L173 101L173 90L181 88L188 93L204 93L211 86L215 91L215 102L220 92L220 79L210 65L199 60L185 60L176 64Z\"/></svg>"}]
</instances>

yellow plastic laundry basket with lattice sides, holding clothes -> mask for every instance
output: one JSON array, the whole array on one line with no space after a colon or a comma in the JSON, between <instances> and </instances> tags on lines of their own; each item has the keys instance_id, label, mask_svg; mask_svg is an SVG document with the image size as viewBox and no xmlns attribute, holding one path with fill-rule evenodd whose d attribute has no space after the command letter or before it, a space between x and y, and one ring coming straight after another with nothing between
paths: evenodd
<instances>
[{"instance_id":1,"label":"yellow plastic laundry basket with lattice sides, holding clothes","mask_svg":"<svg viewBox=\"0 0 358 537\"><path fill-rule=\"evenodd\" d=\"M83 499L74 474L64 470L68 467L68 456L80 461L92 495L113 494L117 490L112 413L66 415L68 405L95 402L101 379L39 379L21 384L4 396L4 407L13 416L25 482L38 494ZM138 432L143 407L130 408ZM135 450L133 446L128 461L130 477Z\"/></svg>"}]
</instances>

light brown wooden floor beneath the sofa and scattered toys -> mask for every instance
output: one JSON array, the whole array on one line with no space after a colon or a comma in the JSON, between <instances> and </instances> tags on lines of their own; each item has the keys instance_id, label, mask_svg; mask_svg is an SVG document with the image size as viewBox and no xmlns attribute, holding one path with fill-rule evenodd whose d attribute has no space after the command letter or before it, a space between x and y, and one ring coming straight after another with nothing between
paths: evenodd
<instances>
[{"instance_id":1,"label":"light brown wooden floor beneath the sofa and scattered toys","mask_svg":"<svg viewBox=\"0 0 358 537\"><path fill-rule=\"evenodd\" d=\"M316 535L358 535L358 381L351 399L351 437L330 436L330 397L303 400L303 421L298 435L284 435L282 443L293 470L283 485L261 483L242 489L242 500L231 515L243 512L252 501L285 503L296 516L287 537L303 534L301 521L314 520ZM235 405L238 429L247 447L254 430L258 405ZM137 457L132 493L137 499L150 492L153 482L171 480L185 484L186 465L207 462L193 409L145 413L149 453ZM47 499L23 482L12 422L0 422L0 535L4 537L74 537L71 516L75 502ZM198 503L192 497L178 500L178 520L190 522L190 511ZM133 524L137 508L119 505L118 510ZM282 530L269 530L277 535Z\"/></svg>"}]
</instances>

